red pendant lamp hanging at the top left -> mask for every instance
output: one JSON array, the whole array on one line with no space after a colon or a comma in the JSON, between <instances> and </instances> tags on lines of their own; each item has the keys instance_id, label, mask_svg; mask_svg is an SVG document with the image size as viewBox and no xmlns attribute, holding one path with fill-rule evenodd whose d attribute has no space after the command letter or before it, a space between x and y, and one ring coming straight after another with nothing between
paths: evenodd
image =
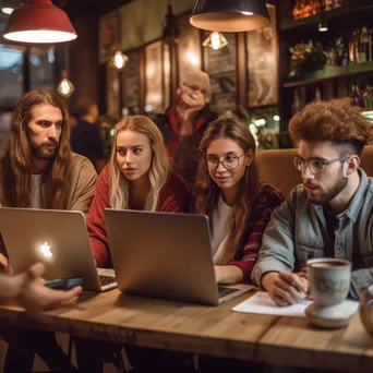
<instances>
[{"instance_id":1,"label":"red pendant lamp hanging at the top left","mask_svg":"<svg viewBox=\"0 0 373 373\"><path fill-rule=\"evenodd\" d=\"M77 35L67 13L50 0L25 0L10 15L3 37L25 44L56 44Z\"/></svg>"}]
</instances>

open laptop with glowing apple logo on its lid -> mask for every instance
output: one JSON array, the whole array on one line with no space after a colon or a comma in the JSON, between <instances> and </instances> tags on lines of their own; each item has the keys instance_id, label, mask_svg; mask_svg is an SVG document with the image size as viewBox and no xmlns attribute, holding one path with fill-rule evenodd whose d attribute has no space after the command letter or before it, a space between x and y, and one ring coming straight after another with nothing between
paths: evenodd
<instances>
[{"instance_id":1,"label":"open laptop with glowing apple logo on its lid","mask_svg":"<svg viewBox=\"0 0 373 373\"><path fill-rule=\"evenodd\" d=\"M2 207L0 233L14 274L41 262L47 280L82 277L93 291L117 287L113 269L96 267L81 212Z\"/></svg>"}]
</instances>

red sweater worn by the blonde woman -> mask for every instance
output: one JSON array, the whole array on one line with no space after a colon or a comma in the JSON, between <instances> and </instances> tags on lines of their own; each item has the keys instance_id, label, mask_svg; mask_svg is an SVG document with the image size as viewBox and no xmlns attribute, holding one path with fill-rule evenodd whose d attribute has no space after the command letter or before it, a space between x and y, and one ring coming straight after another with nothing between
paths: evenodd
<instances>
[{"instance_id":1,"label":"red sweater worn by the blonde woman","mask_svg":"<svg viewBox=\"0 0 373 373\"><path fill-rule=\"evenodd\" d=\"M104 209L111 208L109 192L109 167L106 166L97 178L94 200L87 216L91 248L98 267L110 265L109 240L104 219ZM159 193L157 212L185 213L188 202L189 188L185 181L172 171Z\"/></svg>"}]
</instances>

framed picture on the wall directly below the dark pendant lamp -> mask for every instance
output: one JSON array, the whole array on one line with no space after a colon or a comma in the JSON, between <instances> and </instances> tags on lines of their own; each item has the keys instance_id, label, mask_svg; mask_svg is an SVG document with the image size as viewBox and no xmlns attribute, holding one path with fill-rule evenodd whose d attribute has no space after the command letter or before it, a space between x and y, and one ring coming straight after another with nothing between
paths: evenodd
<instances>
[{"instance_id":1,"label":"framed picture on the wall directly below the dark pendant lamp","mask_svg":"<svg viewBox=\"0 0 373 373\"><path fill-rule=\"evenodd\" d=\"M204 32L204 39L210 33ZM204 48L204 70L212 84L212 110L218 115L237 111L237 36L224 34L228 45L222 49Z\"/></svg>"}]
</instances>

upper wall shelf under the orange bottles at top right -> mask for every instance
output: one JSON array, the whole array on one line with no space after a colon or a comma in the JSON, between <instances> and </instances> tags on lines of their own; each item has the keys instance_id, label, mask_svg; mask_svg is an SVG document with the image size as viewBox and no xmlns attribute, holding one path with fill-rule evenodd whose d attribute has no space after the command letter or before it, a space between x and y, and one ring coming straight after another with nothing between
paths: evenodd
<instances>
[{"instance_id":1,"label":"upper wall shelf under the orange bottles at top right","mask_svg":"<svg viewBox=\"0 0 373 373\"><path fill-rule=\"evenodd\" d=\"M372 0L359 0L358 2L336 9L332 9L326 12L327 21L335 21L337 19L351 19L351 17L360 17L362 15L366 15L366 12L373 11L373 2ZM290 21L282 23L280 25L280 29L284 32L290 31L317 31L317 24L320 22L320 14L309 16L306 19Z\"/></svg>"}]
</instances>

